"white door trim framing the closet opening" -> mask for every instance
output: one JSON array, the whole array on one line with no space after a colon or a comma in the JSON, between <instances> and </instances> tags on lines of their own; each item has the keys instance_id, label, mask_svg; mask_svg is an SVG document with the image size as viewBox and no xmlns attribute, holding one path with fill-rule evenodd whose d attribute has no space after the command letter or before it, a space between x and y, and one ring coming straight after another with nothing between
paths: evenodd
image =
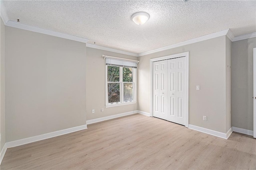
<instances>
[{"instance_id":1,"label":"white door trim framing the closet opening","mask_svg":"<svg viewBox=\"0 0 256 170\"><path fill-rule=\"evenodd\" d=\"M164 59L173 59L173 58L178 58L178 57L186 57L186 111L185 111L185 116L186 116L186 123L185 127L188 128L188 77L189 77L189 52L184 52L184 53L178 53L178 54L173 54L173 55L167 55L164 57L158 57L158 58L153 58L150 59L150 117L153 117L153 62L154 61L160 61Z\"/></svg>"}]
</instances>

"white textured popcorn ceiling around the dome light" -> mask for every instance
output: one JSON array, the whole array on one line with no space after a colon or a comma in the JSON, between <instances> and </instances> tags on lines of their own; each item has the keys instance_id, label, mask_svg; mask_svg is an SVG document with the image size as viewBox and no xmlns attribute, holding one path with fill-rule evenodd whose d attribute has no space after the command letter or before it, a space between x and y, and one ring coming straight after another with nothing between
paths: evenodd
<instances>
[{"instance_id":1,"label":"white textured popcorn ceiling around the dome light","mask_svg":"<svg viewBox=\"0 0 256 170\"><path fill-rule=\"evenodd\" d=\"M256 1L3 1L10 20L142 53L221 30L256 32ZM150 19L138 26L135 12Z\"/></svg>"}]
</instances>

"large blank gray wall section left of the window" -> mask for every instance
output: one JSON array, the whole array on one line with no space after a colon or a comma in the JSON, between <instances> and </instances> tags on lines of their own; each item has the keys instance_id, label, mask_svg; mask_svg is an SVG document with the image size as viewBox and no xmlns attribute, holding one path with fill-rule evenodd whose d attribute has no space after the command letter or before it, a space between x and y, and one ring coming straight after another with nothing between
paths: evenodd
<instances>
[{"instance_id":1,"label":"large blank gray wall section left of the window","mask_svg":"<svg viewBox=\"0 0 256 170\"><path fill-rule=\"evenodd\" d=\"M86 124L86 44L6 27L6 142Z\"/></svg>"}]
</instances>

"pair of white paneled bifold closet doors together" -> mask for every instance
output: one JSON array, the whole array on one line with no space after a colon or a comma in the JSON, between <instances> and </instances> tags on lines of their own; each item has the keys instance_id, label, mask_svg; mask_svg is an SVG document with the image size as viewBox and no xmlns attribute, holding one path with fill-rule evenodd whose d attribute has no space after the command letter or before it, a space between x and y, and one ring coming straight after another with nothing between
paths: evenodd
<instances>
[{"instance_id":1,"label":"pair of white paneled bifold closet doors together","mask_svg":"<svg viewBox=\"0 0 256 170\"><path fill-rule=\"evenodd\" d=\"M153 63L153 116L186 124L186 57Z\"/></svg>"}]
</instances>

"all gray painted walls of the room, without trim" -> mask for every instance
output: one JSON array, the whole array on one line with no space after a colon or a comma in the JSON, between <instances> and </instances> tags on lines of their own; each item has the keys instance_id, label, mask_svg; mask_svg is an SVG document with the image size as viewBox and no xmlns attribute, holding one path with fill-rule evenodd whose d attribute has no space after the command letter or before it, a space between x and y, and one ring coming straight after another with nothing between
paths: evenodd
<instances>
[{"instance_id":1,"label":"all gray painted walls of the room, without trim","mask_svg":"<svg viewBox=\"0 0 256 170\"><path fill-rule=\"evenodd\" d=\"M221 36L137 58L5 27L2 20L0 32L1 149L5 131L6 142L10 142L119 113L135 110L149 113L150 59L186 51L190 56L189 124L225 133L232 120L234 127L253 129L252 49L256 47L256 38L231 42ZM138 103L105 108L102 54L140 60ZM232 72L228 65L232 65ZM200 85L200 91L196 91L196 85ZM92 109L95 109L93 114ZM202 120L203 115L208 121Z\"/></svg>"}]
</instances>

